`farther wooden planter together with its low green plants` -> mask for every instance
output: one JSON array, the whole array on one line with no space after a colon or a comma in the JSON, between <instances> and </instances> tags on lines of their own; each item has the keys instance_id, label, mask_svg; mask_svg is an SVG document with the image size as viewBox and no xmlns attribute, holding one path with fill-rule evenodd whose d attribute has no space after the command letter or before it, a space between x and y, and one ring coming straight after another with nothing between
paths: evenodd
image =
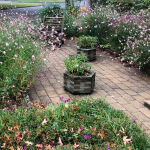
<instances>
[{"instance_id":1,"label":"farther wooden planter together with its low green plants","mask_svg":"<svg viewBox=\"0 0 150 150\"><path fill-rule=\"evenodd\" d=\"M77 54L84 53L88 61L96 59L96 45L98 43L97 37L92 36L80 36L76 38L77 43Z\"/></svg>"}]
</instances>

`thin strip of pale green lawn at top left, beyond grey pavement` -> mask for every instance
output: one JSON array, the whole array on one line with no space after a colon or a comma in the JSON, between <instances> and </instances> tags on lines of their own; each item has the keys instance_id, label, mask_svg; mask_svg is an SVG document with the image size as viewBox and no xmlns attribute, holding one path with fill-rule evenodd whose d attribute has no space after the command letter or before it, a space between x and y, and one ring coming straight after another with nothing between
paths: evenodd
<instances>
[{"instance_id":1,"label":"thin strip of pale green lawn at top left, beyond grey pavement","mask_svg":"<svg viewBox=\"0 0 150 150\"><path fill-rule=\"evenodd\" d=\"M41 6L41 3L0 3L0 9L12 9L12 8L23 8L23 7L35 7Z\"/></svg>"}]
</instances>

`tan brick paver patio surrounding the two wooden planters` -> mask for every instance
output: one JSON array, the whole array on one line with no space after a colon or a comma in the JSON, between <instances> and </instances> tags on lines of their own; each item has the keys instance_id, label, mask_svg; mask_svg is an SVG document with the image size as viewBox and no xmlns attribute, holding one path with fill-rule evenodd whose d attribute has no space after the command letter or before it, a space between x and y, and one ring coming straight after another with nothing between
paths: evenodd
<instances>
[{"instance_id":1,"label":"tan brick paver patio surrounding the two wooden planters","mask_svg":"<svg viewBox=\"0 0 150 150\"><path fill-rule=\"evenodd\" d=\"M68 54L76 54L73 41L66 41L60 50L47 53L45 66L30 89L31 100L47 105L59 103L60 96L65 99L106 97L112 107L123 110L150 134L150 110L144 106L144 101L150 100L150 77L97 51L97 60L90 63L96 72L94 92L91 95L72 95L63 89L63 60Z\"/></svg>"}]
</instances>

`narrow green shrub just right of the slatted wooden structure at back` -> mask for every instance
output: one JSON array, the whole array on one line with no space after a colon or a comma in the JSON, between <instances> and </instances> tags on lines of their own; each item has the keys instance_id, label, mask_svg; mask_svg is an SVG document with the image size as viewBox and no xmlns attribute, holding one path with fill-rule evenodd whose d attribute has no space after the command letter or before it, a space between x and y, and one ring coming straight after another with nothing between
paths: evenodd
<instances>
[{"instance_id":1,"label":"narrow green shrub just right of the slatted wooden structure at back","mask_svg":"<svg viewBox=\"0 0 150 150\"><path fill-rule=\"evenodd\" d=\"M64 12L64 33L66 37L72 37L78 35L77 27L74 25L76 17L72 15L69 11Z\"/></svg>"}]
</instances>

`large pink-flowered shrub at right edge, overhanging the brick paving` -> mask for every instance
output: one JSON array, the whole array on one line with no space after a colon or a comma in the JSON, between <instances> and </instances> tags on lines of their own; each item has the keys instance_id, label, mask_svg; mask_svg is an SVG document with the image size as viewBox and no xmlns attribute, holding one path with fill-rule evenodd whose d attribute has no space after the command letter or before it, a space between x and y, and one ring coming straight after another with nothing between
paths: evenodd
<instances>
[{"instance_id":1,"label":"large pink-flowered shrub at right edge, overhanging the brick paving","mask_svg":"<svg viewBox=\"0 0 150 150\"><path fill-rule=\"evenodd\" d=\"M150 17L141 11L136 15L126 14L113 20L113 32L109 38L112 51L122 60L140 68L150 66Z\"/></svg>"}]
</instances>

